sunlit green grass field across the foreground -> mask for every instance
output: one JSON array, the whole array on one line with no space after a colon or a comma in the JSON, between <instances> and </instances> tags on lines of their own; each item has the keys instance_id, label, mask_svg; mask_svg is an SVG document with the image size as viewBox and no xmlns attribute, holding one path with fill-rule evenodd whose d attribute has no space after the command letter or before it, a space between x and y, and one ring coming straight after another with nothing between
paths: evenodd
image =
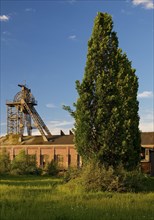
<instances>
[{"instance_id":1,"label":"sunlit green grass field across the foreground","mask_svg":"<svg viewBox=\"0 0 154 220\"><path fill-rule=\"evenodd\" d=\"M1 220L152 220L154 178L147 192L82 193L51 177L3 177Z\"/></svg>"}]
</instances>

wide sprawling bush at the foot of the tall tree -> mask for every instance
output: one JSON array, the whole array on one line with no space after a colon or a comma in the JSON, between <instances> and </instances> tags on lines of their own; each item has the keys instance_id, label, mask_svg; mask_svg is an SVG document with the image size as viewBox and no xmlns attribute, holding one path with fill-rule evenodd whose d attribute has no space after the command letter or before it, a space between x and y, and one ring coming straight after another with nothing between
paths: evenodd
<instances>
[{"instance_id":1,"label":"wide sprawling bush at the foot of the tall tree","mask_svg":"<svg viewBox=\"0 0 154 220\"><path fill-rule=\"evenodd\" d=\"M139 170L126 171L123 166L106 168L91 162L84 165L80 172L69 171L65 179L72 184L77 181L85 192L138 192L144 190L147 178Z\"/></svg>"}]
</instances>

